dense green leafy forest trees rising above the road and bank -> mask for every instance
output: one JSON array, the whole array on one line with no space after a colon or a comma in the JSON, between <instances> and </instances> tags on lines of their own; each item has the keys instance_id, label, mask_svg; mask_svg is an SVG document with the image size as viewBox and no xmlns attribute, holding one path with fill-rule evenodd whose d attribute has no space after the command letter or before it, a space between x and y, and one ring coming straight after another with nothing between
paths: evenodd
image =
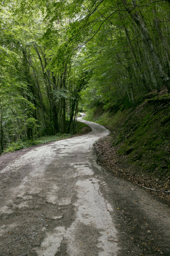
<instances>
[{"instance_id":1,"label":"dense green leafy forest trees rising above the road and bank","mask_svg":"<svg viewBox=\"0 0 170 256\"><path fill-rule=\"evenodd\" d=\"M0 153L99 105L168 113L169 22L170 0L1 0Z\"/></svg>"}]
</instances>

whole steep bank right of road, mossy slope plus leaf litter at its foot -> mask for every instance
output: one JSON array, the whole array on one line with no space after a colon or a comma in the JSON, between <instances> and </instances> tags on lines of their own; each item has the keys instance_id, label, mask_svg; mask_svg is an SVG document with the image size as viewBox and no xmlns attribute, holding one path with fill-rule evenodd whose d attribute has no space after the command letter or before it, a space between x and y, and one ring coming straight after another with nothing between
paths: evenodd
<instances>
[{"instance_id":1,"label":"whole steep bank right of road, mossy slope plus leaf litter at its foot","mask_svg":"<svg viewBox=\"0 0 170 256\"><path fill-rule=\"evenodd\" d=\"M170 190L170 95L147 95L135 107L87 113L111 130L96 148L102 164L113 172L151 189ZM150 190L151 191L151 190ZM170 193L158 192L170 200Z\"/></svg>"}]
</instances>

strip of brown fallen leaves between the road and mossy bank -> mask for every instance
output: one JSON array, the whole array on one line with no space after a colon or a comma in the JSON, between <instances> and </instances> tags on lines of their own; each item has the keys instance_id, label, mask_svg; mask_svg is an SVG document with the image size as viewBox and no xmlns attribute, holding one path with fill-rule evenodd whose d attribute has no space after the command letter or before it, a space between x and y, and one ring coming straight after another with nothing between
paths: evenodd
<instances>
[{"instance_id":1,"label":"strip of brown fallen leaves between the road and mossy bank","mask_svg":"<svg viewBox=\"0 0 170 256\"><path fill-rule=\"evenodd\" d=\"M151 189L170 190L169 176L163 177L163 179L157 179L156 177L143 172L142 169L137 170L131 168L131 166L124 161L123 157L117 154L116 148L112 146L110 140L111 136L107 136L105 138L101 138L93 145L95 153L97 154L97 160L100 164L106 167L108 172L114 173L118 177L127 179L134 184L139 184ZM170 193L156 192L149 189L145 190L170 205Z\"/></svg>"}]
</instances>

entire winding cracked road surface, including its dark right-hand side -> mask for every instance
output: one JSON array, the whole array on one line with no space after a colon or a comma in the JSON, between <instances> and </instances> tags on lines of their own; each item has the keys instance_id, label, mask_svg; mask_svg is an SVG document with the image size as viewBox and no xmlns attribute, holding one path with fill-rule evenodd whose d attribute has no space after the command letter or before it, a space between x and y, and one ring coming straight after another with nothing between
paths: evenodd
<instances>
[{"instance_id":1,"label":"entire winding cracked road surface, including its dark right-hand side","mask_svg":"<svg viewBox=\"0 0 170 256\"><path fill-rule=\"evenodd\" d=\"M80 119L80 118L79 118ZM170 256L170 207L97 164L92 132L30 148L0 172L0 255Z\"/></svg>"}]
</instances>

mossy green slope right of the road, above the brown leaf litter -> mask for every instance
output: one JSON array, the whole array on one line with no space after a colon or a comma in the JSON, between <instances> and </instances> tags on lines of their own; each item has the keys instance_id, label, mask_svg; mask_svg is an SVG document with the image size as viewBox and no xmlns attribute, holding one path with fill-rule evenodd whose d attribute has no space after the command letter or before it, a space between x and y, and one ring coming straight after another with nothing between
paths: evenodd
<instances>
[{"instance_id":1,"label":"mossy green slope right of the road, above the brown leaf litter","mask_svg":"<svg viewBox=\"0 0 170 256\"><path fill-rule=\"evenodd\" d=\"M122 161L139 171L162 177L170 174L170 98L153 97L117 112L98 106L86 120L111 130L112 146Z\"/></svg>"}]
</instances>

